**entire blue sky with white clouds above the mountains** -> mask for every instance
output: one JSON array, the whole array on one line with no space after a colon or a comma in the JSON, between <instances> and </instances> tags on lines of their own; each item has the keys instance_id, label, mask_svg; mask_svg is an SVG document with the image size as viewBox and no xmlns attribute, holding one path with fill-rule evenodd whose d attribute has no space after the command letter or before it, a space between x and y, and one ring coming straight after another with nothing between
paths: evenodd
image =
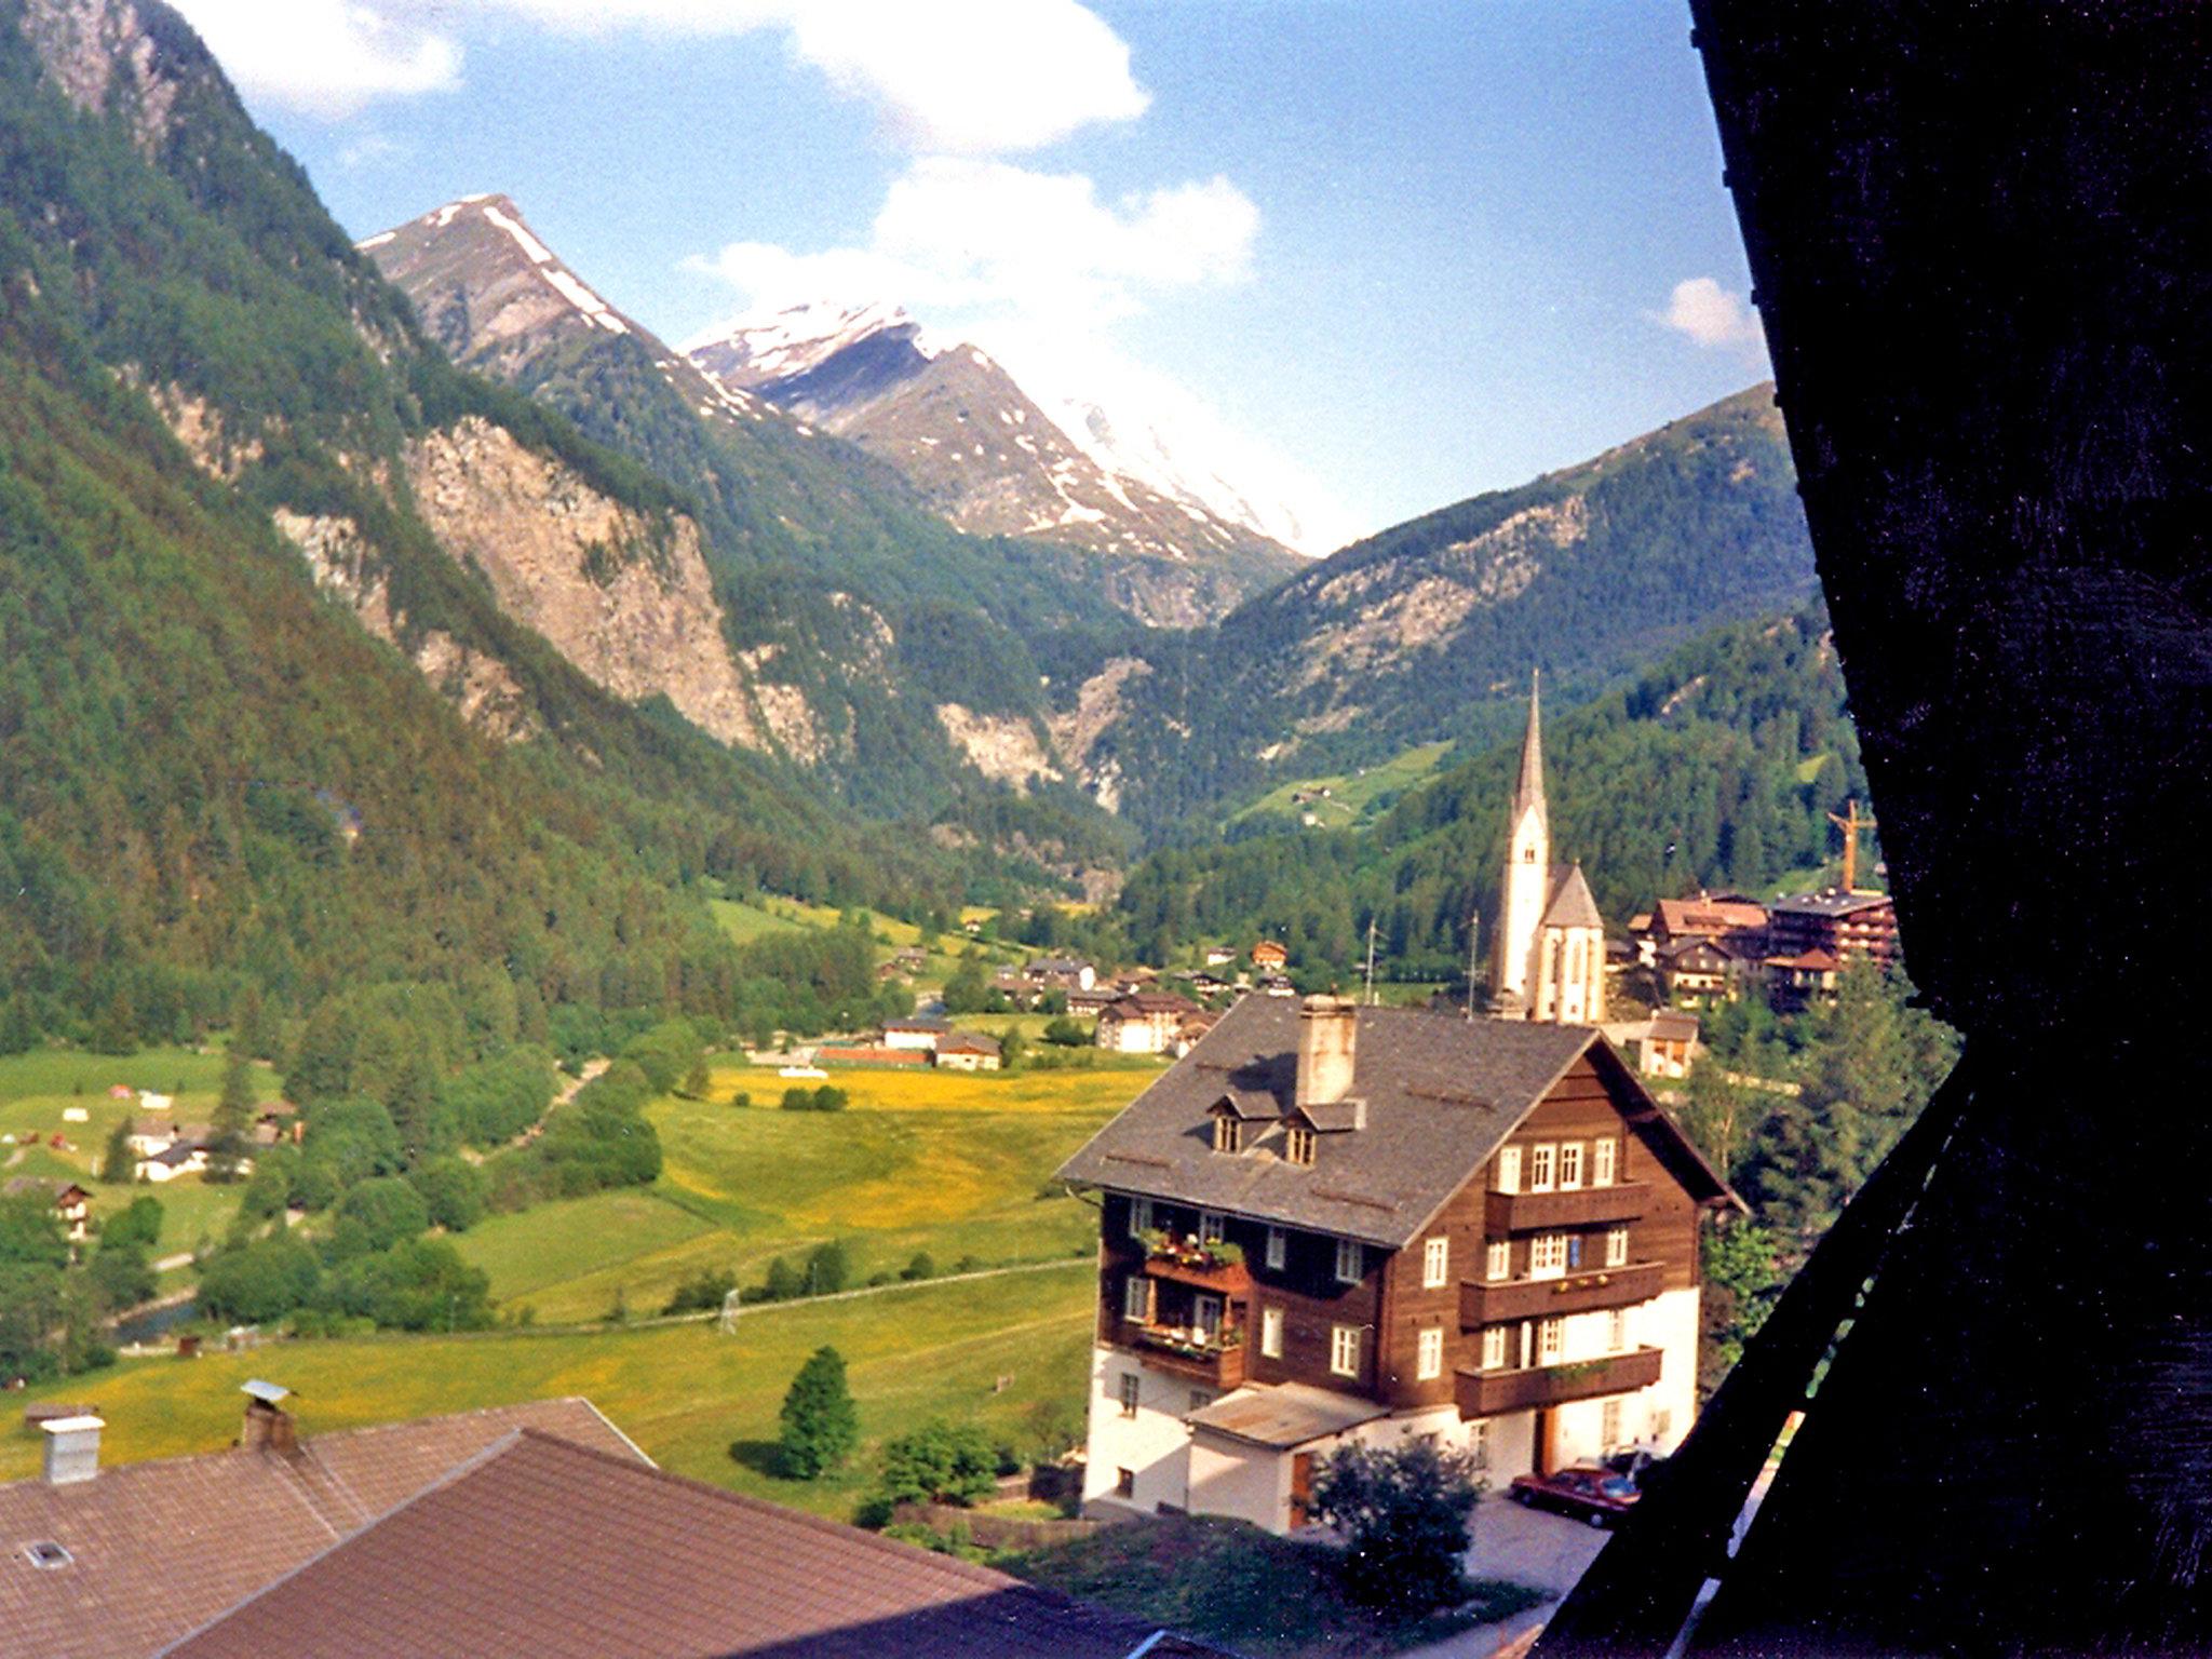
<instances>
[{"instance_id":1,"label":"entire blue sky with white clouds above the mountains","mask_svg":"<svg viewBox=\"0 0 2212 1659\"><path fill-rule=\"evenodd\" d=\"M356 234L513 195L688 341L889 299L1316 546L1765 376L1663 0L184 0Z\"/></svg>"}]
</instances>

